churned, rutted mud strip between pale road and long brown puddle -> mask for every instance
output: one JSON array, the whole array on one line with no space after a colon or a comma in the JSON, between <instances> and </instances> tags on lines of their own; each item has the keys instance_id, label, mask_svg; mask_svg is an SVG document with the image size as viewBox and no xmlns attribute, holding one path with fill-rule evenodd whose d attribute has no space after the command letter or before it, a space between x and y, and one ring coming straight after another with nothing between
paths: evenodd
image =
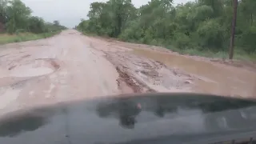
<instances>
[{"instance_id":1,"label":"churned, rutted mud strip between pale road and long brown puddle","mask_svg":"<svg viewBox=\"0 0 256 144\"><path fill-rule=\"evenodd\" d=\"M194 78L182 70L135 55L134 50L129 47L89 37L86 37L86 42L90 42L92 48L101 50L105 57L117 67L119 78L133 90L128 93L191 91ZM119 89L122 88L119 86Z\"/></svg>"}]
</instances>

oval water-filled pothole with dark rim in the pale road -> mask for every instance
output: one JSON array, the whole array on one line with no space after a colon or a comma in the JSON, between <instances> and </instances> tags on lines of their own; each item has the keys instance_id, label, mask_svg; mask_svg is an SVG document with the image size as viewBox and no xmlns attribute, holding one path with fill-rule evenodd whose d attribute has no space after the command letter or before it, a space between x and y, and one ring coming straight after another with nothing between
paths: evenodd
<instances>
[{"instance_id":1,"label":"oval water-filled pothole with dark rim in the pale road","mask_svg":"<svg viewBox=\"0 0 256 144\"><path fill-rule=\"evenodd\" d=\"M59 65L53 59L38 59L10 70L9 77L36 77L51 74L58 70Z\"/></svg>"}]
</instances>

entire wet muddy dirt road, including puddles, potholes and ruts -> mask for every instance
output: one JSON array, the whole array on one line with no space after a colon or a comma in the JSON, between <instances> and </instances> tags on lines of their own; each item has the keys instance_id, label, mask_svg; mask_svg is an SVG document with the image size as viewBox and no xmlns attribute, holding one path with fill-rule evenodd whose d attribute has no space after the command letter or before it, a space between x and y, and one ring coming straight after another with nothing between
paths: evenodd
<instances>
[{"instance_id":1,"label":"entire wet muddy dirt road, including puddles, potholes and ruts","mask_svg":"<svg viewBox=\"0 0 256 144\"><path fill-rule=\"evenodd\" d=\"M75 30L0 46L0 113L80 98L184 91L250 97L256 73Z\"/></svg>"}]
</instances>

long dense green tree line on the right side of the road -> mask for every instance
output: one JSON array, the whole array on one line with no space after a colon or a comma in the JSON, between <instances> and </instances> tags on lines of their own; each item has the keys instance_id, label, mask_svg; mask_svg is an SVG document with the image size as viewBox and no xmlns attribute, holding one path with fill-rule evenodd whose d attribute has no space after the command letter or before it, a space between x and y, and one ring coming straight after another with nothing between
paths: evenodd
<instances>
[{"instance_id":1,"label":"long dense green tree line on the right side of the road","mask_svg":"<svg viewBox=\"0 0 256 144\"><path fill-rule=\"evenodd\" d=\"M88 20L76 27L85 33L127 42L213 52L228 51L234 0L197 0L174 6L173 0L151 0L139 8L131 0L90 4ZM256 1L238 0L235 49L256 52Z\"/></svg>"}]
</instances>

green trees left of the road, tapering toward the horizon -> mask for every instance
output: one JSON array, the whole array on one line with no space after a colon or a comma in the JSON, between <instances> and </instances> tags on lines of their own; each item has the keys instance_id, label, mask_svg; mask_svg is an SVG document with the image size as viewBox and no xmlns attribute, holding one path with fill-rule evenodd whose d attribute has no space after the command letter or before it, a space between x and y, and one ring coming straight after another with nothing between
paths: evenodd
<instances>
[{"instance_id":1,"label":"green trees left of the road, tapering toward the horizon","mask_svg":"<svg viewBox=\"0 0 256 144\"><path fill-rule=\"evenodd\" d=\"M0 30L14 34L31 32L48 33L66 29L58 21L45 22L42 18L32 16L32 10L21 0L0 0Z\"/></svg>"}]
</instances>

